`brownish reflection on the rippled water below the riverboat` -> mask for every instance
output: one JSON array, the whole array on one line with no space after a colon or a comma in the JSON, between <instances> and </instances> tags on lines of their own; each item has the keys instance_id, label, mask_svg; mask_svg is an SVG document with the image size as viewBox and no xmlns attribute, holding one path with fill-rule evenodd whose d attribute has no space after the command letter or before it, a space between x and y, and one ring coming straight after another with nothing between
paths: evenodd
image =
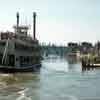
<instances>
[{"instance_id":1,"label":"brownish reflection on the rippled water below the riverboat","mask_svg":"<svg viewBox=\"0 0 100 100\"><path fill-rule=\"evenodd\" d=\"M39 77L39 73L0 74L0 100L31 100L29 91L39 86Z\"/></svg>"}]
</instances>

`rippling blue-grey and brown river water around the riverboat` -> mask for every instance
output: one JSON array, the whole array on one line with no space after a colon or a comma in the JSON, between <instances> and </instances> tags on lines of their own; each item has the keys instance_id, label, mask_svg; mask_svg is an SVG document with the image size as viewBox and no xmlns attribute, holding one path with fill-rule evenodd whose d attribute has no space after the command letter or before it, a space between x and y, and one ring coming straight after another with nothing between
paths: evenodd
<instances>
[{"instance_id":1,"label":"rippling blue-grey and brown river water around the riverboat","mask_svg":"<svg viewBox=\"0 0 100 100\"><path fill-rule=\"evenodd\" d=\"M100 100L100 69L82 72L67 59L45 59L40 72L0 74L0 100Z\"/></svg>"}]
</instances>

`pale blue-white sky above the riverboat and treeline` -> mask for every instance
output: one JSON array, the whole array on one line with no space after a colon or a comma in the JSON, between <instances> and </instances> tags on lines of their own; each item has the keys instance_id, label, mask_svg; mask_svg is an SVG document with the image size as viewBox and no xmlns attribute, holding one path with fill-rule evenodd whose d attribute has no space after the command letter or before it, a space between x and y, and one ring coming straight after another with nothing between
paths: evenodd
<instances>
[{"instance_id":1,"label":"pale blue-white sky above the riverboat and treeline","mask_svg":"<svg viewBox=\"0 0 100 100\"><path fill-rule=\"evenodd\" d=\"M37 12L40 42L100 40L100 0L0 0L0 31L16 24L17 11L20 23L31 25L32 12Z\"/></svg>"}]
</instances>

